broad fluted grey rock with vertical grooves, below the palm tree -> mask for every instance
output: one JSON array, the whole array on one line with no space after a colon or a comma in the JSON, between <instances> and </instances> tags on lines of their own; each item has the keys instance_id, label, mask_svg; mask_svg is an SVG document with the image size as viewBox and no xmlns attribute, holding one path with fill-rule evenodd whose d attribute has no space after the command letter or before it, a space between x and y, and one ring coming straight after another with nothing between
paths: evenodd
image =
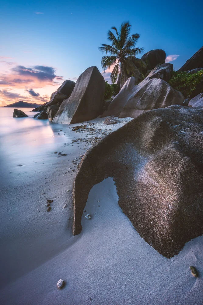
<instances>
[{"instance_id":1,"label":"broad fluted grey rock with vertical grooves, below the palm tree","mask_svg":"<svg viewBox=\"0 0 203 305\"><path fill-rule=\"evenodd\" d=\"M171 66L167 67L170 68ZM155 73L154 75L157 74ZM161 73L159 76L162 75L168 74ZM119 118L135 118L151 109L165 108L175 104L182 105L184 96L181 92L173 89L161 78L151 78L152 75L151 79L148 79L148 77L136 86L135 78L130 77L121 88L121 91L112 100L102 117L114 115Z\"/></svg>"}]
</instances>

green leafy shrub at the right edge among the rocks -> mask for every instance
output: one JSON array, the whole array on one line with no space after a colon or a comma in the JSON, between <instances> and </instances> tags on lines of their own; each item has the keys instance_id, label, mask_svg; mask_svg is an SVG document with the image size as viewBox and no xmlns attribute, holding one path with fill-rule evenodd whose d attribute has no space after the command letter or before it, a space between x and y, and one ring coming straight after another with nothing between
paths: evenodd
<instances>
[{"instance_id":1,"label":"green leafy shrub at the right edge among the rocks","mask_svg":"<svg viewBox=\"0 0 203 305\"><path fill-rule=\"evenodd\" d=\"M184 97L189 98L192 91L196 89L201 81L203 81L203 70L200 70L194 74L173 71L169 84L174 89L180 91Z\"/></svg>"}]
</instances>

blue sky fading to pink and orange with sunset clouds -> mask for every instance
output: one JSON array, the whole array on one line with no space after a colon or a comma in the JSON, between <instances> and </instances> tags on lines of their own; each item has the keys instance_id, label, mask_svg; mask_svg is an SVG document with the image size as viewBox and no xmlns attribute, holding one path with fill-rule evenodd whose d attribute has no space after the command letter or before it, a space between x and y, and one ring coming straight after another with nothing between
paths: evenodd
<instances>
[{"instance_id":1,"label":"blue sky fading to pink and orange with sunset clouds","mask_svg":"<svg viewBox=\"0 0 203 305\"><path fill-rule=\"evenodd\" d=\"M0 106L19 100L42 104L64 80L90 66L102 72L101 43L124 21L144 52L163 49L178 70L203 45L199 1L0 0Z\"/></svg>"}]
</instances>

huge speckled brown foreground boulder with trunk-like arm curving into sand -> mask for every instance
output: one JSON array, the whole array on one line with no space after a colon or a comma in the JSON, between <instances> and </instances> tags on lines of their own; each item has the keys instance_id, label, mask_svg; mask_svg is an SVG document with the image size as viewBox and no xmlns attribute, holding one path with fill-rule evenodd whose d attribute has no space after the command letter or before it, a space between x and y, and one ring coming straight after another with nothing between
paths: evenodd
<instances>
[{"instance_id":1,"label":"huge speckled brown foreground boulder with trunk-like arm curving into sand","mask_svg":"<svg viewBox=\"0 0 203 305\"><path fill-rule=\"evenodd\" d=\"M73 234L82 230L90 189L113 177L118 204L139 235L173 257L203 234L202 145L203 109L178 105L143 113L107 135L79 165Z\"/></svg>"}]
</instances>

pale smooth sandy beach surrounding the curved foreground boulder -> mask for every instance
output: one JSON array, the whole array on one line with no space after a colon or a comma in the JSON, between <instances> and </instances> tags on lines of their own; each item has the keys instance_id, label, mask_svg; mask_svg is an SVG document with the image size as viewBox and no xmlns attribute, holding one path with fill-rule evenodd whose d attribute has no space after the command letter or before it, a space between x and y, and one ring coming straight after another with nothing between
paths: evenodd
<instances>
[{"instance_id":1,"label":"pale smooth sandy beach surrounding the curved foreground boulder","mask_svg":"<svg viewBox=\"0 0 203 305\"><path fill-rule=\"evenodd\" d=\"M37 123L35 131L22 127L11 138L7 134L1 148L1 304L203 304L203 237L172 259L163 257L122 213L112 178L91 189L84 215L92 218L83 217L81 234L72 236L72 169L77 167L72 160L91 145L72 140L99 137L129 119L115 125L103 120L92 121L92 135L49 123ZM51 212L47 199L54 200ZM64 289L57 289L59 279L65 280Z\"/></svg>"}]
</instances>

